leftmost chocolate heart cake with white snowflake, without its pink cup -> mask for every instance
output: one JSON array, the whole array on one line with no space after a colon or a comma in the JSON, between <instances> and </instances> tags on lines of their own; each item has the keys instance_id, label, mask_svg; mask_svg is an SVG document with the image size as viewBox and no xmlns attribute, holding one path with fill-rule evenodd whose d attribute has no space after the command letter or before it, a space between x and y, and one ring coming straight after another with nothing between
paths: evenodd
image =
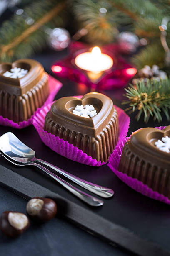
<instances>
[{"instance_id":1,"label":"leftmost chocolate heart cake with white snowflake, without its pink cup","mask_svg":"<svg viewBox=\"0 0 170 256\"><path fill-rule=\"evenodd\" d=\"M0 64L0 115L19 123L47 100L48 75L33 59Z\"/></svg>"}]
</instances>

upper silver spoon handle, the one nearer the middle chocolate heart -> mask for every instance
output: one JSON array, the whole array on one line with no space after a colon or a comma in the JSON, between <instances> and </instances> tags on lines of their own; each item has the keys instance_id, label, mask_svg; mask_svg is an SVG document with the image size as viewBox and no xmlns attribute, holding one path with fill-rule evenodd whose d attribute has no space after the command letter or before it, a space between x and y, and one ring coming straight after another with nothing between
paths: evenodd
<instances>
[{"instance_id":1,"label":"upper silver spoon handle, the one nearer the middle chocolate heart","mask_svg":"<svg viewBox=\"0 0 170 256\"><path fill-rule=\"evenodd\" d=\"M50 167L51 169L55 170L56 172L62 174L63 176L67 177L68 179L72 180L73 182L75 182L76 184L78 184L81 187L84 187L85 189L89 190L90 192L99 195L100 197L104 197L104 198L108 198L108 197L112 197L114 195L114 191L112 189L109 189L107 187L102 187L100 185L97 184L93 184L91 182L87 182L84 179L80 179L60 168L58 168L57 166L54 166L44 160L41 159L37 159L34 158L33 161L44 164L48 167Z\"/></svg>"}]
</instances>

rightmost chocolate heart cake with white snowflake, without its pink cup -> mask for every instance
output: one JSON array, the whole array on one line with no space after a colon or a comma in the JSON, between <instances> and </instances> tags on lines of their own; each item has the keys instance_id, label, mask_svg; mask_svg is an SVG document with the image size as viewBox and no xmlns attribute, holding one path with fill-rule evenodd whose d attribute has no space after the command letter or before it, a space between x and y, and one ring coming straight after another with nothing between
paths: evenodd
<instances>
[{"instance_id":1,"label":"rightmost chocolate heart cake with white snowflake, without its pink cup","mask_svg":"<svg viewBox=\"0 0 170 256\"><path fill-rule=\"evenodd\" d=\"M170 198L170 125L133 133L123 148L118 171Z\"/></svg>"}]
</instances>

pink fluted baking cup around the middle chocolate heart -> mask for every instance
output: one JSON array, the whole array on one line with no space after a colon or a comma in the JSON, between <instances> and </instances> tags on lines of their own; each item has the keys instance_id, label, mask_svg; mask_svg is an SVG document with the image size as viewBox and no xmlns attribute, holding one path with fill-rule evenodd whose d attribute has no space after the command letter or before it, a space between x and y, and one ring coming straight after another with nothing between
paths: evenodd
<instances>
[{"instance_id":1,"label":"pink fluted baking cup around the middle chocolate heart","mask_svg":"<svg viewBox=\"0 0 170 256\"><path fill-rule=\"evenodd\" d=\"M82 96L76 96L82 97ZM82 152L82 150L78 149L77 147L73 146L72 144L60 139L58 136L55 136L47 131L44 131L44 121L47 112L50 110L52 103L42 107L37 111L37 113L33 117L33 125L37 132L40 135L41 140L51 148L56 153L67 157L73 161L77 161L82 164L90 165L90 166L100 166L106 164L106 162L97 161L96 159L92 159L91 156L87 156L86 153ZM119 129L120 129L120 138L119 141L122 141L127 136L130 118L128 115L121 109L115 106L118 119L119 119Z\"/></svg>"}]
</instances>

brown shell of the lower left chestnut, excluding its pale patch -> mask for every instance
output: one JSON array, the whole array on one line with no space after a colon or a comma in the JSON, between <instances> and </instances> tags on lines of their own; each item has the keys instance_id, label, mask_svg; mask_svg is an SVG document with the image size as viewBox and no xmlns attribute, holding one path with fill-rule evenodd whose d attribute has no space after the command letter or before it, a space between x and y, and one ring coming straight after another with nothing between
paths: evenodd
<instances>
[{"instance_id":1,"label":"brown shell of the lower left chestnut, excluding its pale patch","mask_svg":"<svg viewBox=\"0 0 170 256\"><path fill-rule=\"evenodd\" d=\"M30 221L29 221L28 217L24 213L22 213L27 218L28 223L22 229L15 228L14 226L12 226L10 224L9 219L8 219L8 215L9 215L10 212L21 214L21 212L15 212L15 211L5 211L5 212L3 212L1 217L0 217L0 229L7 236L10 236L10 237L20 236L25 230L27 230L29 228Z\"/></svg>"}]
</instances>

